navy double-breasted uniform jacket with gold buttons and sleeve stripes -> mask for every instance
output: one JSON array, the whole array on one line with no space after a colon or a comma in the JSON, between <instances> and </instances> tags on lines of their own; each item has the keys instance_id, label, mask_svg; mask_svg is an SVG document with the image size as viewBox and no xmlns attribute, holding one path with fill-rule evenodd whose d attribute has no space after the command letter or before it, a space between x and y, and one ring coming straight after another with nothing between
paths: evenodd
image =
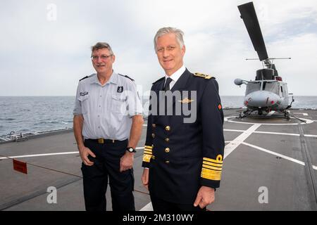
<instances>
[{"instance_id":1,"label":"navy double-breasted uniform jacket with gold buttons and sleeve stripes","mask_svg":"<svg viewBox=\"0 0 317 225\"><path fill-rule=\"evenodd\" d=\"M220 185L225 141L218 83L185 70L170 90L180 91L180 99L173 98L172 106L165 104L173 107L173 115L157 115L152 110L164 105L159 97L164 82L163 77L151 88L158 100L151 96L142 167L149 168L151 194L171 203L193 204L201 186ZM191 91L197 91L196 96ZM192 112L196 108L196 120L185 123L191 115L177 113L178 104Z\"/></svg>"}]
</instances>

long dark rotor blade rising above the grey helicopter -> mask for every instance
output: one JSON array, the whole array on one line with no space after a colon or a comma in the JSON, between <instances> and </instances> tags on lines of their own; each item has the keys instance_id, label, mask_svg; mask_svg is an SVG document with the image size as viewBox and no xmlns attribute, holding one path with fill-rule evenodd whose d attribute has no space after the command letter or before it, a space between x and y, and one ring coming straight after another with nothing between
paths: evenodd
<instances>
[{"instance_id":1,"label":"long dark rotor blade rising above the grey helicopter","mask_svg":"<svg viewBox=\"0 0 317 225\"><path fill-rule=\"evenodd\" d=\"M244 25L247 27L250 39L254 46L254 50L258 53L261 61L268 59L266 52L266 44L264 43L259 20L256 16L256 11L253 2L237 6L239 8L241 18Z\"/></svg>"}]
</instances>

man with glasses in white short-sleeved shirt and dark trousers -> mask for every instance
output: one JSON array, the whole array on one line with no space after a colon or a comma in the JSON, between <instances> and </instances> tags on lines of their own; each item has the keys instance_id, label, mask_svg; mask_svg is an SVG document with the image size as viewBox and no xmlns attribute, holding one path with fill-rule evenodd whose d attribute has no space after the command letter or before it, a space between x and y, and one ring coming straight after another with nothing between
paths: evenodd
<instances>
[{"instance_id":1,"label":"man with glasses in white short-sleeved shirt and dark trousers","mask_svg":"<svg viewBox=\"0 0 317 225\"><path fill-rule=\"evenodd\" d=\"M80 79L77 87L73 122L87 211L106 210L108 179L113 211L135 210L132 166L142 104L133 80L113 71L115 59L107 43L92 46L97 74Z\"/></svg>"}]
</instances>

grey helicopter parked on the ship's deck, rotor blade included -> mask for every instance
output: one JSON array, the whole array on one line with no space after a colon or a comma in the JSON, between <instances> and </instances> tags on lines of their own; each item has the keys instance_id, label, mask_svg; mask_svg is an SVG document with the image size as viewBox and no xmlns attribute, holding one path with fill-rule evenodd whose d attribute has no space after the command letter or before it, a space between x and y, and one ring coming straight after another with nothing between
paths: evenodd
<instances>
[{"instance_id":1,"label":"grey helicopter parked on the ship's deck, rotor blade included","mask_svg":"<svg viewBox=\"0 0 317 225\"><path fill-rule=\"evenodd\" d=\"M291 58L269 58L253 2L237 7L244 25L247 27L254 50L259 56L259 59L253 58L247 60L260 60L263 65L263 69L256 71L254 81L235 79L236 85L247 85L244 96L244 105L247 107L247 110L244 110L243 113L241 112L239 118L242 119L251 116L251 113L254 112L257 112L257 115L254 116L262 116L263 113L266 113L266 115L270 115L271 117L281 117L272 115L275 112L280 112L282 113L282 117L290 120L290 111L287 109L292 107L294 97L292 96L292 102L289 105L289 95L292 94L288 94L287 83L283 82L282 77L278 75L278 70L276 70L273 61Z\"/></svg>"}]
</instances>

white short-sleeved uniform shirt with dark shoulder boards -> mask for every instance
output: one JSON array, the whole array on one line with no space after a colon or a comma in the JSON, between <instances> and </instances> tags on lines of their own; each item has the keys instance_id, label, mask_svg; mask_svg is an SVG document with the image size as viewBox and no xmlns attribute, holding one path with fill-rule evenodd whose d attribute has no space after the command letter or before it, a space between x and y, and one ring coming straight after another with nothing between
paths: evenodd
<instances>
[{"instance_id":1,"label":"white short-sleeved uniform shirt with dark shoulder boards","mask_svg":"<svg viewBox=\"0 0 317 225\"><path fill-rule=\"evenodd\" d=\"M94 74L79 82L73 114L84 117L85 139L123 141L130 136L132 117L142 115L142 103L130 78L113 72L101 85Z\"/></svg>"}]
</instances>

